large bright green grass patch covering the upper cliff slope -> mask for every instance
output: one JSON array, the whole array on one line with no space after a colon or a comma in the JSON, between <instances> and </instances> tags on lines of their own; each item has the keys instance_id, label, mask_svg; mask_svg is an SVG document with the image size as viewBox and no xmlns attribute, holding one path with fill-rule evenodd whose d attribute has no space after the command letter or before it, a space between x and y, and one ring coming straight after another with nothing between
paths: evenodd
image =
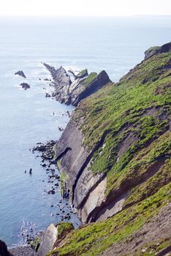
<instances>
[{"instance_id":1,"label":"large bright green grass patch covering the upper cliff slope","mask_svg":"<svg viewBox=\"0 0 171 256\"><path fill-rule=\"evenodd\" d=\"M105 131L110 131L104 145L95 152L90 167L94 174L107 173L108 192L115 183L114 173L121 176L129 170L126 166L134 161L137 152L169 129L170 89L166 85L171 77L164 76L168 72L164 67L170 63L170 56L170 53L162 53L143 61L119 83L99 90L75 110L75 121L79 122L80 116L84 116L81 129L85 137L84 145L89 151ZM151 77L157 77L157 80L153 81ZM148 82L142 84L145 78ZM161 93L156 94L156 89L161 89ZM155 112L150 114L152 108ZM163 120L160 118L162 113L167 116ZM130 132L137 139L118 159L118 145Z\"/></svg>"}]
</instances>

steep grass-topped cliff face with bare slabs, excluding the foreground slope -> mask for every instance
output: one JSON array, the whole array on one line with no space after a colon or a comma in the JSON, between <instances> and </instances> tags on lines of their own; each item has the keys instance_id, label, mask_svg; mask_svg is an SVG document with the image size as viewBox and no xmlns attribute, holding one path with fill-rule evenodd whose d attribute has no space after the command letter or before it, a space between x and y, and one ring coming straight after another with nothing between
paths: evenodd
<instances>
[{"instance_id":1,"label":"steep grass-topped cliff face with bare slabs, excluding the foreground slope","mask_svg":"<svg viewBox=\"0 0 171 256\"><path fill-rule=\"evenodd\" d=\"M81 102L58 141L56 159L84 223L131 205L136 200L132 191L148 187L161 172L167 146L156 158L151 154L153 146L167 145L168 67L170 50L142 61L118 84Z\"/></svg>"}]
</instances>

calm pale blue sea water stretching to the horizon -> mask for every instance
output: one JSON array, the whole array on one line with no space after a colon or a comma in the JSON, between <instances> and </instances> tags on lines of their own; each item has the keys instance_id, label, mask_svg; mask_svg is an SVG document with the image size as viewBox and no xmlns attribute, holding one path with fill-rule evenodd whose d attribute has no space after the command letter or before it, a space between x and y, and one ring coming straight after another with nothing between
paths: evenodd
<instances>
[{"instance_id":1,"label":"calm pale blue sea water stretching to the horizon","mask_svg":"<svg viewBox=\"0 0 171 256\"><path fill-rule=\"evenodd\" d=\"M58 140L58 126L66 126L65 113L72 107L45 98L43 87L50 89L39 78L49 74L41 61L105 69L117 81L143 59L147 48L169 42L170 34L170 17L0 18L0 238L9 246L20 242L21 226L41 230L59 220L51 215L58 212L61 195L43 193L47 174L29 148ZM14 75L21 69L27 79ZM23 82L31 89L20 89ZM30 167L32 176L24 173ZM77 227L74 214L71 220Z\"/></svg>"}]
</instances>

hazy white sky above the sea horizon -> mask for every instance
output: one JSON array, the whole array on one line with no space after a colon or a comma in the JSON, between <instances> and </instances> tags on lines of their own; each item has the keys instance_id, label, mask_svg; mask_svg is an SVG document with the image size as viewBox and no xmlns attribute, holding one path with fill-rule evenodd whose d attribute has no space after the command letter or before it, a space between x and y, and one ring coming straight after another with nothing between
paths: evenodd
<instances>
[{"instance_id":1,"label":"hazy white sky above the sea horizon","mask_svg":"<svg viewBox=\"0 0 171 256\"><path fill-rule=\"evenodd\" d=\"M0 0L0 15L171 15L171 0Z\"/></svg>"}]
</instances>

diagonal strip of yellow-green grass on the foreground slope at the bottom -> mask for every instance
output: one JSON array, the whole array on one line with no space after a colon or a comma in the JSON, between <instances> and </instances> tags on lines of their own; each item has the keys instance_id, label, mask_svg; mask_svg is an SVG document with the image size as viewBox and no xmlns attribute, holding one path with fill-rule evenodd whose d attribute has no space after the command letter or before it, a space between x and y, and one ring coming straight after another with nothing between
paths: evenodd
<instances>
[{"instance_id":1,"label":"diagonal strip of yellow-green grass on the foreground slope at the bottom","mask_svg":"<svg viewBox=\"0 0 171 256\"><path fill-rule=\"evenodd\" d=\"M66 239L66 244L49 255L99 255L115 242L129 238L148 219L170 201L171 186L166 185L155 195L141 203L121 211L104 222L96 222L75 230Z\"/></svg>"}]
</instances>

